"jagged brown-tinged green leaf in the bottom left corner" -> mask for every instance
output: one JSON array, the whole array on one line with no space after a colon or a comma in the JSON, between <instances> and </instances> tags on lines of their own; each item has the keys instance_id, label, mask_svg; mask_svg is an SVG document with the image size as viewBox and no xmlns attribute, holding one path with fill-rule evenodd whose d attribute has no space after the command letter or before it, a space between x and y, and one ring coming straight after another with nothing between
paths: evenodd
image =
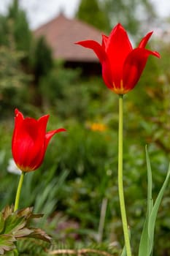
<instances>
[{"instance_id":1,"label":"jagged brown-tinged green leaf in the bottom left corner","mask_svg":"<svg viewBox=\"0 0 170 256\"><path fill-rule=\"evenodd\" d=\"M0 212L0 255L14 250L18 238L36 238L50 242L51 238L44 230L30 227L32 219L42 216L42 214L33 214L33 208L13 211L13 207L6 206Z\"/></svg>"}]
</instances>

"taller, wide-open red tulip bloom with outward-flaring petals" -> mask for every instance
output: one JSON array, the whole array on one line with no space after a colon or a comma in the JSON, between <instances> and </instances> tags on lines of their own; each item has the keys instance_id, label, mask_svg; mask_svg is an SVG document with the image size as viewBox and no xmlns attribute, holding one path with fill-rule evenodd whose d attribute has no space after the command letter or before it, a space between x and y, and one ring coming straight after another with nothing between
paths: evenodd
<instances>
[{"instance_id":1,"label":"taller, wide-open red tulip bloom with outward-flaring petals","mask_svg":"<svg viewBox=\"0 0 170 256\"><path fill-rule=\"evenodd\" d=\"M134 89L150 55L160 58L159 53L145 49L152 32L148 33L139 46L132 48L123 26L118 23L109 37L102 36L102 44L93 40L76 42L92 49L102 66L104 83L116 94L126 94Z\"/></svg>"}]
</instances>

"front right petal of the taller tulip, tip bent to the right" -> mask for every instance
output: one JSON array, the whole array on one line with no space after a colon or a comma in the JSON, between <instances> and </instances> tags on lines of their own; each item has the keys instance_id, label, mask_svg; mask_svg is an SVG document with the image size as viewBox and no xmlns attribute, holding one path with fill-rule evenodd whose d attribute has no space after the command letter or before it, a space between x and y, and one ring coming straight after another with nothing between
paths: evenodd
<instances>
[{"instance_id":1,"label":"front right petal of the taller tulip, tip bent to the right","mask_svg":"<svg viewBox=\"0 0 170 256\"><path fill-rule=\"evenodd\" d=\"M127 93L136 86L150 55L158 57L158 53L144 48L136 48L129 53L123 67L124 93Z\"/></svg>"}]
</instances>

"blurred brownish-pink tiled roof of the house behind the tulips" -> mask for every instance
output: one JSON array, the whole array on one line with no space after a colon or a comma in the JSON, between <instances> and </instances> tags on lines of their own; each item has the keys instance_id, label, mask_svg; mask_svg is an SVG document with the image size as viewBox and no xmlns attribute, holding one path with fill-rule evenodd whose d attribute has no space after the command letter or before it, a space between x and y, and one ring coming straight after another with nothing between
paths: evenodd
<instances>
[{"instance_id":1,"label":"blurred brownish-pink tiled roof of the house behind the tulips","mask_svg":"<svg viewBox=\"0 0 170 256\"><path fill-rule=\"evenodd\" d=\"M56 59L64 61L98 62L93 50L74 45L74 42L93 39L101 42L101 31L77 19L62 14L34 31L36 37L44 36Z\"/></svg>"}]
</instances>

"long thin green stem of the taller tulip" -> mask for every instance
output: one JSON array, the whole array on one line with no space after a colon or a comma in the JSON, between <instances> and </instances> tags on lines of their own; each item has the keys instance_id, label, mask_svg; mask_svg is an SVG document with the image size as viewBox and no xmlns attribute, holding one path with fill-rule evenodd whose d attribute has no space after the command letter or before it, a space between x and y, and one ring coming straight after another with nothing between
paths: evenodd
<instances>
[{"instance_id":1,"label":"long thin green stem of the taller tulip","mask_svg":"<svg viewBox=\"0 0 170 256\"><path fill-rule=\"evenodd\" d=\"M126 218L125 199L123 193L123 95L119 95L118 191L126 255L131 256L131 244L128 235L128 222Z\"/></svg>"}]
</instances>

